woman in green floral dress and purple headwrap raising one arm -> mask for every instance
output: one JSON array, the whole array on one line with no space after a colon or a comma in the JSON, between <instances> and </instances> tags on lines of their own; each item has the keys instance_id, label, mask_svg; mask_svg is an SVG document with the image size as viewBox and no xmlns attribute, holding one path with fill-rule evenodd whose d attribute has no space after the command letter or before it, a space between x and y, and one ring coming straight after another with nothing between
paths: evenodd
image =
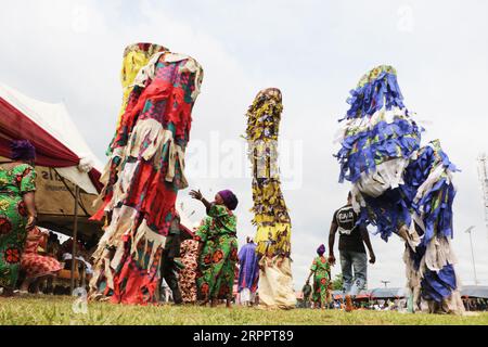
<instances>
[{"instance_id":1,"label":"woman in green floral dress and purple headwrap raising one arm","mask_svg":"<svg viewBox=\"0 0 488 347\"><path fill-rule=\"evenodd\" d=\"M237 198L229 190L218 192L214 203L206 201L200 191L191 191L190 195L200 200L207 209L207 217L195 233L198 241L198 294L203 305L211 300L211 307L216 307L219 299L226 299L230 308L237 262L237 220L232 210L237 207Z\"/></svg>"}]
</instances>

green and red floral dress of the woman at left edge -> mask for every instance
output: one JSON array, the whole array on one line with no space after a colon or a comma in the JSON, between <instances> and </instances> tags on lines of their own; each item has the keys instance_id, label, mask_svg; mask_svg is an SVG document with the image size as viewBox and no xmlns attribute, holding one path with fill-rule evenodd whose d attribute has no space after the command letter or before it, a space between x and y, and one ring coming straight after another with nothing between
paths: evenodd
<instances>
[{"instance_id":1,"label":"green and red floral dress of the woman at left edge","mask_svg":"<svg viewBox=\"0 0 488 347\"><path fill-rule=\"evenodd\" d=\"M0 286L14 288L27 236L23 195L36 190L36 171L28 164L0 166Z\"/></svg>"}]
</instances>

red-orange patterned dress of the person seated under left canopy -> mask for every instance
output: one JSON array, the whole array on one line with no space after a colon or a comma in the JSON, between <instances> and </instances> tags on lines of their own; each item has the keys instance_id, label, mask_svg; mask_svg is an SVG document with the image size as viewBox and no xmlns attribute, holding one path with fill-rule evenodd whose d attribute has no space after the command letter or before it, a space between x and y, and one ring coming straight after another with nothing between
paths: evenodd
<instances>
[{"instance_id":1,"label":"red-orange patterned dress of the person seated under left canopy","mask_svg":"<svg viewBox=\"0 0 488 347\"><path fill-rule=\"evenodd\" d=\"M39 228L34 228L27 233L21 267L29 278L55 274L63 269L57 259L38 254L39 247L46 249L47 236Z\"/></svg>"}]
</instances>

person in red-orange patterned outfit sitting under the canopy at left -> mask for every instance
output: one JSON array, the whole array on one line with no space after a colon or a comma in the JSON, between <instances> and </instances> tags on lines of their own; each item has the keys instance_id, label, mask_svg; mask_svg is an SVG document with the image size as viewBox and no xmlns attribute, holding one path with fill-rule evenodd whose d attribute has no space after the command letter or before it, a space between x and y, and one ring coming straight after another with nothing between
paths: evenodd
<instances>
[{"instance_id":1,"label":"person in red-orange patterned outfit sitting under the canopy at left","mask_svg":"<svg viewBox=\"0 0 488 347\"><path fill-rule=\"evenodd\" d=\"M60 261L50 256L38 254L39 247L47 252L48 234L39 228L34 228L27 234L21 267L26 278L21 285L21 293L27 293L29 285L35 282L35 292L39 291L39 283L44 279L56 275L63 269Z\"/></svg>"}]
</instances>

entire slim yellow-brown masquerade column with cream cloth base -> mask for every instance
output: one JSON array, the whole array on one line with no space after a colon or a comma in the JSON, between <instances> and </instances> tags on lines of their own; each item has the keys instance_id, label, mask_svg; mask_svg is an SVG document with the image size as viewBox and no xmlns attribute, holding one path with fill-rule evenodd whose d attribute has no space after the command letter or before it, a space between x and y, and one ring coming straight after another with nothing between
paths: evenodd
<instances>
[{"instance_id":1,"label":"entire slim yellow-brown masquerade column with cream cloth base","mask_svg":"<svg viewBox=\"0 0 488 347\"><path fill-rule=\"evenodd\" d=\"M247 111L246 140L253 164L253 223L257 226L256 253L259 303L269 308L295 307L291 271L291 220L280 189L278 132L283 110L281 92L260 91Z\"/></svg>"}]
</instances>

